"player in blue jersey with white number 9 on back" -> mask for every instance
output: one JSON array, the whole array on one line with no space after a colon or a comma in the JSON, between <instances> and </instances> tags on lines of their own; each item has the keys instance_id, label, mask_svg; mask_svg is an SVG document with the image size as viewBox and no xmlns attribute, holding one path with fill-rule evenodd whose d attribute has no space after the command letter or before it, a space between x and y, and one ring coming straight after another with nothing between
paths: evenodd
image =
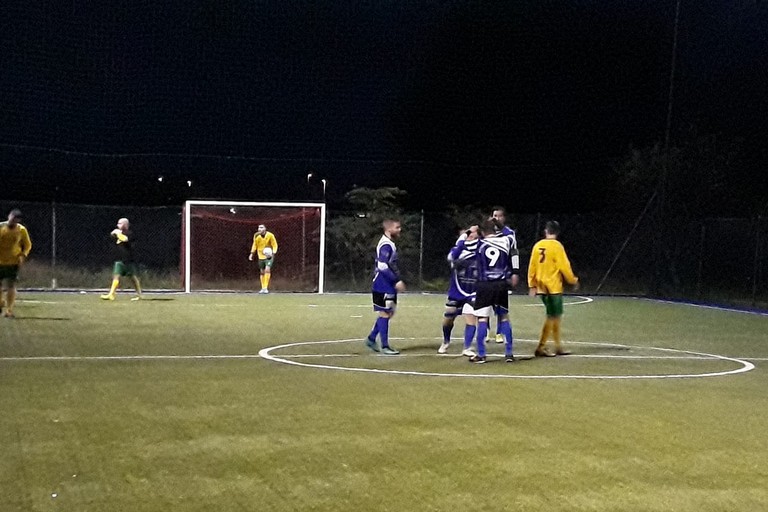
<instances>
[{"instance_id":1,"label":"player in blue jersey with white number 9 on back","mask_svg":"<svg viewBox=\"0 0 768 512\"><path fill-rule=\"evenodd\" d=\"M469 360L485 363L485 338L488 319L495 312L499 319L499 332L504 336L504 360L512 363L512 326L509 323L509 287L520 280L520 257L512 238L501 233L498 221L488 219L480 227L482 237L477 247L477 355Z\"/></svg>"}]
</instances>

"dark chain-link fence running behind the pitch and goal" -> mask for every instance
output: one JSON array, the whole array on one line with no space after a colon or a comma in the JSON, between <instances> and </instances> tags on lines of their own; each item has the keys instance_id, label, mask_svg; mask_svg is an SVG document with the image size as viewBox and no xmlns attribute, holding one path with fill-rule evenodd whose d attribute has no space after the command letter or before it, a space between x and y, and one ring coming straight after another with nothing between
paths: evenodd
<instances>
[{"instance_id":1,"label":"dark chain-link fence running behind the pitch and goal","mask_svg":"<svg viewBox=\"0 0 768 512\"><path fill-rule=\"evenodd\" d=\"M120 217L131 220L136 234L135 250L145 288L183 287L181 207L0 201L3 215L12 208L22 210L33 243L31 258L21 273L21 288L106 288L113 261L109 232ZM762 217L668 220L669 235L664 237L654 221L637 222L629 214L509 214L507 224L517 232L524 272L531 248L550 219L560 222L560 240L581 279L579 293L768 305L768 223ZM407 212L402 221L398 248L409 289L443 293L449 272L446 255L466 226L456 225L448 212ZM361 229L363 225L365 229ZM279 239L280 233L275 234ZM327 291L369 289L378 236L378 226L365 215L328 212ZM249 245L250 240L244 244ZM281 271L291 272L287 267ZM243 276L243 280L254 277ZM258 289L257 282L253 288Z\"/></svg>"}]
</instances>

